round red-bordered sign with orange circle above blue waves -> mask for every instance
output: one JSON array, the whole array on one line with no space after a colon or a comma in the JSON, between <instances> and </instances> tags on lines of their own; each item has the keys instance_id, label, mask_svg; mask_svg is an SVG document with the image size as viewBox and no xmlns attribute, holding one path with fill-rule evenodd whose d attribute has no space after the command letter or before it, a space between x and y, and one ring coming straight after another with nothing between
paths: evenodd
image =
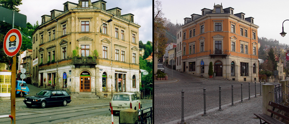
<instances>
[{"instance_id":1,"label":"round red-bordered sign with orange circle above blue waves","mask_svg":"<svg viewBox=\"0 0 289 124\"><path fill-rule=\"evenodd\" d=\"M22 35L18 29L11 29L4 38L3 48L6 55L15 56L22 45Z\"/></svg>"}]
</instances>

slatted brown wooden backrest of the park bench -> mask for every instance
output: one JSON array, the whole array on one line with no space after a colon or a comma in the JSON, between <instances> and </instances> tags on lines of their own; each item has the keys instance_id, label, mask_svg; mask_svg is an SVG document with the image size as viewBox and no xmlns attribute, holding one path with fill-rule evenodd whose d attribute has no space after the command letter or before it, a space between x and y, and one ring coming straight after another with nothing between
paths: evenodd
<instances>
[{"instance_id":1,"label":"slatted brown wooden backrest of the park bench","mask_svg":"<svg viewBox=\"0 0 289 124\"><path fill-rule=\"evenodd\" d=\"M270 109L267 110L268 112L272 113L271 117L273 117L273 114L275 114L275 115L281 117L282 119L289 121L289 107L283 106L283 105L280 105L280 104L277 104L277 103L274 103L271 101L269 102L269 106L273 107L272 110L270 110ZM275 109L277 109L277 110L275 110ZM281 121L281 120L279 120L279 121Z\"/></svg>"}]
</instances>

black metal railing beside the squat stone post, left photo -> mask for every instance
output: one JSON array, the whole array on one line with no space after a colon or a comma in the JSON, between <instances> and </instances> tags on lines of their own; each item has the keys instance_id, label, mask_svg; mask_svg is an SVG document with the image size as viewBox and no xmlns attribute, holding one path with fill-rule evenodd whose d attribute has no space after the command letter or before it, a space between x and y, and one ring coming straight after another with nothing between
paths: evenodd
<instances>
[{"instance_id":1,"label":"black metal railing beside the squat stone post, left photo","mask_svg":"<svg viewBox=\"0 0 289 124\"><path fill-rule=\"evenodd\" d=\"M144 110L150 109L147 112L144 112ZM141 112L140 115L138 115L138 124L152 124L153 123L153 107L145 108L142 110L138 110L138 112Z\"/></svg>"}]
</instances>

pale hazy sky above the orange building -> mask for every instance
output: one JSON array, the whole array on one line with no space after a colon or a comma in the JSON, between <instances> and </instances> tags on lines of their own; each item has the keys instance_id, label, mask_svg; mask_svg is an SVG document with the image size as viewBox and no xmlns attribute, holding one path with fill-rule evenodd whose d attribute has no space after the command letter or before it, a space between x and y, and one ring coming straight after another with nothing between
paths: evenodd
<instances>
[{"instance_id":1,"label":"pale hazy sky above the orange building","mask_svg":"<svg viewBox=\"0 0 289 124\"><path fill-rule=\"evenodd\" d=\"M289 44L289 21L284 22L282 37L282 23L289 19L288 0L159 0L162 2L164 17L172 23L184 24L184 18L191 18L191 14L201 15L201 9L214 9L214 3L223 5L223 9L232 7L234 13L243 12L245 18L253 17L254 24L258 25L258 37L279 40L279 43Z\"/></svg>"}]
</instances>

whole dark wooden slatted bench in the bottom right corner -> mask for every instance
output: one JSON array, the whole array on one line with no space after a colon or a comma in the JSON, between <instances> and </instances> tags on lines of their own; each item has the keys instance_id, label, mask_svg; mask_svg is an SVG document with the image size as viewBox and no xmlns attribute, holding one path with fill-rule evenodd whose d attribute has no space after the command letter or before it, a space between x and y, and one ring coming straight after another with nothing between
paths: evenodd
<instances>
[{"instance_id":1,"label":"whole dark wooden slatted bench in the bottom right corner","mask_svg":"<svg viewBox=\"0 0 289 124\"><path fill-rule=\"evenodd\" d=\"M271 101L269 102L269 106L273 107L272 110L267 110L268 112L271 112L271 116L267 114L254 114L260 119L260 124L289 124L289 107ZM273 118L273 114L276 115L275 117L277 119ZM262 123L261 119L265 122Z\"/></svg>"}]
</instances>

